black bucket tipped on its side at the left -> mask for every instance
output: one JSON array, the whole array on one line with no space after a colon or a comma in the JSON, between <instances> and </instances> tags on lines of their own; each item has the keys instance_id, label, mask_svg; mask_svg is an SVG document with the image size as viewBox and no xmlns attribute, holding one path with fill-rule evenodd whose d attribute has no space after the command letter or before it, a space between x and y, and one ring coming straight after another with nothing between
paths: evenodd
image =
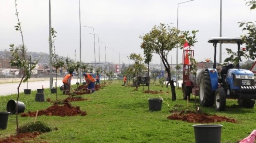
<instances>
[{"instance_id":1,"label":"black bucket tipped on its side at the left","mask_svg":"<svg viewBox=\"0 0 256 143\"><path fill-rule=\"evenodd\" d=\"M18 114L23 113L25 110L25 104L23 102L18 101ZM16 113L16 101L15 100L9 100L6 106L6 110L10 112L10 114Z\"/></svg>"}]
</instances>

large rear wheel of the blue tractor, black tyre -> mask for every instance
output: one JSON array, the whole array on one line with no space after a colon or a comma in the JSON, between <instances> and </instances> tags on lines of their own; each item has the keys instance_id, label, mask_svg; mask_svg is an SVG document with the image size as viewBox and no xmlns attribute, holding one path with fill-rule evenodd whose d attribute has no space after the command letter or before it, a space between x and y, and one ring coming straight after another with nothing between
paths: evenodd
<instances>
[{"instance_id":1,"label":"large rear wheel of the blue tractor, black tyre","mask_svg":"<svg viewBox=\"0 0 256 143\"><path fill-rule=\"evenodd\" d=\"M214 93L208 71L204 72L204 78L201 79L199 88L199 101L202 106L210 107L214 104Z\"/></svg>"}]
</instances>

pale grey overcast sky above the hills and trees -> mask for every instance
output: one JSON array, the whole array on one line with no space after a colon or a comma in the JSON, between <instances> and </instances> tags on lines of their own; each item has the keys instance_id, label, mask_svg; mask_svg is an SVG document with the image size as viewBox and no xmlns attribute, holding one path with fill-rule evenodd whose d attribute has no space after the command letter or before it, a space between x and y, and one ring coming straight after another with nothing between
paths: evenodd
<instances>
[{"instance_id":1,"label":"pale grey overcast sky above the hills and trees","mask_svg":"<svg viewBox=\"0 0 256 143\"><path fill-rule=\"evenodd\" d=\"M178 3L186 0L81 0L81 44L82 61L94 62L95 29L96 62L129 63L127 55L137 53L142 39L154 25L174 23L177 27ZM17 11L28 51L49 53L49 0L17 0ZM178 28L182 31L199 30L198 42L193 49L195 59L213 59L211 37L220 34L220 0L194 0L179 4ZM239 37L242 28L239 21L255 21L256 10L249 10L245 0L222 0L222 37ZM0 0L0 50L9 49L10 44L22 44L17 25L14 0ZM51 26L57 31L56 53L79 60L79 0L51 0ZM100 43L98 42L98 39ZM106 44L102 43L105 42ZM106 48L105 46L112 49ZM245 45L243 45L245 46ZM235 49L236 45L232 45ZM222 45L222 62L227 57ZM100 49L100 54L99 54ZM114 52L113 52L114 51ZM168 61L176 63L176 49L171 51ZM219 49L217 50L217 62ZM131 61L130 61L131 62ZM154 63L160 63L154 55ZM182 50L178 50L178 63L182 62Z\"/></svg>"}]
</instances>

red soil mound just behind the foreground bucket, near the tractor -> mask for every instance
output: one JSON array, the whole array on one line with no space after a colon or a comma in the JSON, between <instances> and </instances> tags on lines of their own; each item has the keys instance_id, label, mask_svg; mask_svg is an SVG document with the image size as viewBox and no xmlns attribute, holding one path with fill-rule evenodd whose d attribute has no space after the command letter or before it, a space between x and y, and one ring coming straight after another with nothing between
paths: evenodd
<instances>
[{"instance_id":1,"label":"red soil mound just behind the foreground bucket, near the tractor","mask_svg":"<svg viewBox=\"0 0 256 143\"><path fill-rule=\"evenodd\" d=\"M228 117L208 115L205 113L197 113L195 111L182 111L181 113L174 113L168 116L167 119L170 120L183 120L189 123L216 123L216 122L231 122L236 123L236 119L231 119Z\"/></svg>"}]
</instances>

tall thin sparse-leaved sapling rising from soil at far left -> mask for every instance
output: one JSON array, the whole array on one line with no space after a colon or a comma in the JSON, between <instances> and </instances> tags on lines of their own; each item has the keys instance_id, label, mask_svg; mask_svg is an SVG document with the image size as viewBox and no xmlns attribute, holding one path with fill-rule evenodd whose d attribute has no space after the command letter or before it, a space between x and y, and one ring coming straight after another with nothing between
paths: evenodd
<instances>
[{"instance_id":1,"label":"tall thin sparse-leaved sapling rising from soil at far left","mask_svg":"<svg viewBox=\"0 0 256 143\"><path fill-rule=\"evenodd\" d=\"M20 96L20 84L22 82L26 82L30 76L31 76L31 70L35 68L36 64L38 63L38 60L36 60L36 62L29 63L28 60L26 60L26 55L25 55L25 46L24 46L24 37L23 37L23 33L22 33L22 29L21 29L21 24L20 24L20 19L19 19L19 13L17 12L17 0L15 0L15 10L16 13L15 15L17 16L17 26L15 27L15 30L20 32L21 35L21 39L22 39L22 46L19 48L14 48L14 44L10 44L10 52L11 52L11 61L10 61L10 65L11 66L16 66L17 68L20 68L22 70L23 75L21 76L20 82L18 84L17 87L17 100L16 100L16 124L17 124L17 135L19 134L19 123L18 123L18 100L19 100L19 96ZM22 53L22 55L20 56L20 52Z\"/></svg>"}]
</instances>

